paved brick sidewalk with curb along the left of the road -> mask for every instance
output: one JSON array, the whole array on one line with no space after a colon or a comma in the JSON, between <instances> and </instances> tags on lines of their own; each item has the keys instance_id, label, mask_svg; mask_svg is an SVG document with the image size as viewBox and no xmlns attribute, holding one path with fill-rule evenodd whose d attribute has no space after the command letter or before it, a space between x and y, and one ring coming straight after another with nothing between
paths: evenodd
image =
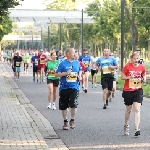
<instances>
[{"instance_id":1,"label":"paved brick sidewalk with curb along the left of the road","mask_svg":"<svg viewBox=\"0 0 150 150\"><path fill-rule=\"evenodd\" d=\"M0 62L0 150L68 150Z\"/></svg>"}]
</instances>

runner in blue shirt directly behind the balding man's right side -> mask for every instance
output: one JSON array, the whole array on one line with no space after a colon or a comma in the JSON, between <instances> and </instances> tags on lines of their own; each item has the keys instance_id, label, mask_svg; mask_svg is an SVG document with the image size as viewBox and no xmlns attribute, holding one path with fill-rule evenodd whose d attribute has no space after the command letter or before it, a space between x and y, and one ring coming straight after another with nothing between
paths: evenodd
<instances>
[{"instance_id":1,"label":"runner in blue shirt directly behind the balding man's right side","mask_svg":"<svg viewBox=\"0 0 150 150\"><path fill-rule=\"evenodd\" d=\"M85 71L82 73L82 88L85 93L87 93L88 88L88 76L91 65L91 57L88 55L88 50L83 49L82 55L79 57L79 61L81 61L85 66Z\"/></svg>"}]
</instances>

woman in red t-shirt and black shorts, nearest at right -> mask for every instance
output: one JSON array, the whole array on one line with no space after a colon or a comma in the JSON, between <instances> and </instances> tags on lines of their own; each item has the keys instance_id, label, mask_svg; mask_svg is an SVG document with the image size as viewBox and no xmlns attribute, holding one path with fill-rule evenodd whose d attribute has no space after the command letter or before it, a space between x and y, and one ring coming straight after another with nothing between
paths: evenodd
<instances>
[{"instance_id":1,"label":"woman in red t-shirt and black shorts, nearest at right","mask_svg":"<svg viewBox=\"0 0 150 150\"><path fill-rule=\"evenodd\" d=\"M134 110L135 134L140 135L140 107L143 101L142 83L146 82L145 67L138 63L139 55L134 53L130 57L131 62L126 64L122 70L121 78L125 80L122 97L126 105L124 134L129 135L129 118L130 113Z\"/></svg>"}]
</instances>

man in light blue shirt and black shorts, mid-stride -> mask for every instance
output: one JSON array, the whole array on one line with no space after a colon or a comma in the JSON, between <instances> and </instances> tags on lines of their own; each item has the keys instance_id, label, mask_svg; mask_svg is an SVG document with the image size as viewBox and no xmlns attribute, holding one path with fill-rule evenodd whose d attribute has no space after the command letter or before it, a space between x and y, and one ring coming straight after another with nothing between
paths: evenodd
<instances>
[{"instance_id":1,"label":"man in light blue shirt and black shorts, mid-stride","mask_svg":"<svg viewBox=\"0 0 150 150\"><path fill-rule=\"evenodd\" d=\"M101 85L103 89L103 109L108 106L108 98L113 88L114 69L117 69L117 62L114 57L109 56L110 50L104 49L103 56L97 60L97 66L101 68Z\"/></svg>"}]
</instances>

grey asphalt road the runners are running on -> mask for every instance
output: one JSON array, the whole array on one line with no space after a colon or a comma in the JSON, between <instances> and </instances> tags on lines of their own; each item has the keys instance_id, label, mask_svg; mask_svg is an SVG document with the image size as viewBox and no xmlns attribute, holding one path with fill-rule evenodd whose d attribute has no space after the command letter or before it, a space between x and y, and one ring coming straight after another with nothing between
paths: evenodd
<instances>
[{"instance_id":1,"label":"grey asphalt road the runners are running on","mask_svg":"<svg viewBox=\"0 0 150 150\"><path fill-rule=\"evenodd\" d=\"M7 71L13 75L12 70L4 65ZM24 94L51 123L56 133L70 150L150 150L150 101L144 99L141 107L141 135L134 137L133 113L130 118L130 135L124 136L124 111L125 106L121 97L121 91L116 91L115 98L104 110L102 102L102 90L98 85L91 88L89 83L88 93L80 92L79 106L75 118L75 130L62 130L63 119L61 111L47 109L48 88L45 83L33 83L32 67L29 74L21 73L20 81L15 81ZM23 69L22 69L23 70ZM68 117L70 120L70 116Z\"/></svg>"}]
</instances>

